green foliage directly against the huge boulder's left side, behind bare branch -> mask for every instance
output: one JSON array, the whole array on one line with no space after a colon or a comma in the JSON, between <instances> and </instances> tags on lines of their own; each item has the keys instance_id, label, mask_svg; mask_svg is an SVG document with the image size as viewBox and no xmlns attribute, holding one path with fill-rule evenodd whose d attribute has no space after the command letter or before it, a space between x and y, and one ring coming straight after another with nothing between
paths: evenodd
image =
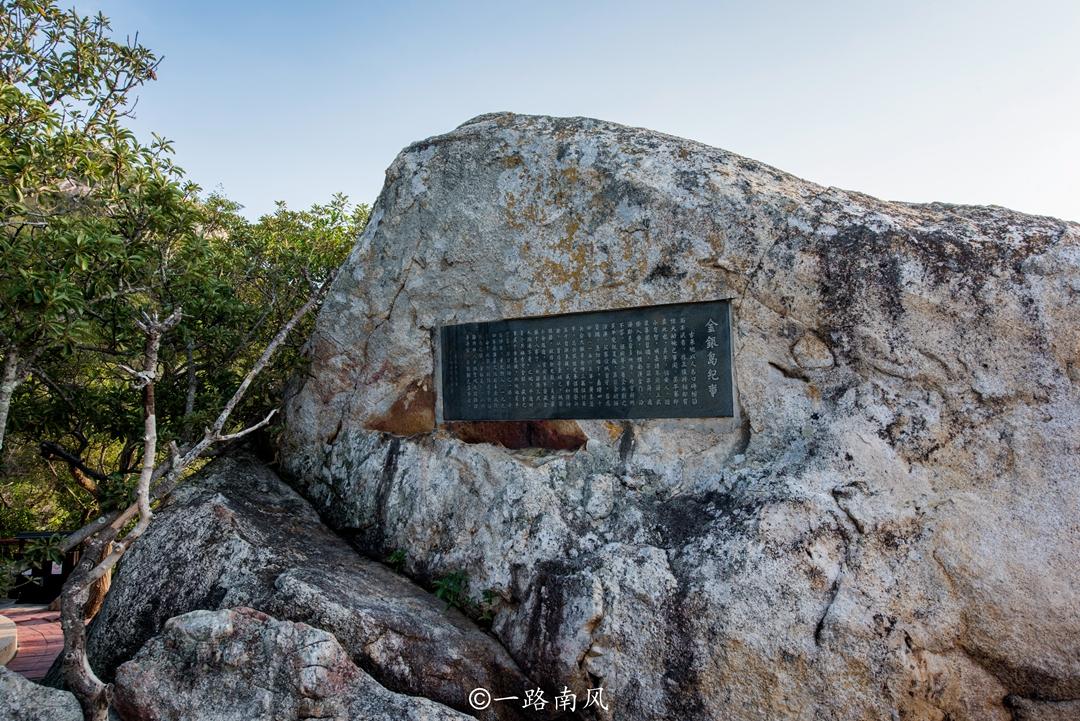
<instances>
[{"instance_id":1,"label":"green foliage directly against the huge boulder's left side, behind bare branch","mask_svg":"<svg viewBox=\"0 0 1080 721\"><path fill-rule=\"evenodd\" d=\"M284 203L248 222L239 208L219 196L204 206L200 242L185 248L186 272L168 280L185 318L166 339L163 357L174 357L174 383L167 392L179 402L192 378L197 404L190 412L174 406L166 433L200 432L232 394L267 342L343 260L367 222L366 205L353 206L345 195L326 205L293 210ZM248 424L278 405L284 385L300 363L300 348L310 335L310 315L260 375L238 409L238 425ZM180 392L184 391L184 392ZM166 400L167 403L167 400ZM178 424L177 424L178 422Z\"/></svg>"}]
</instances>

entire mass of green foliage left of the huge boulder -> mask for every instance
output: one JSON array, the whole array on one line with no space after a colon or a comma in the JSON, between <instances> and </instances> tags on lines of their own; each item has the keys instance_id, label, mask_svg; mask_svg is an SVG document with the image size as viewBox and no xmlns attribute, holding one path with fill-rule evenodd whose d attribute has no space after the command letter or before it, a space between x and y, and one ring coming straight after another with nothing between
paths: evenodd
<instances>
[{"instance_id":1,"label":"entire mass of green foliage left of the huge boulder","mask_svg":"<svg viewBox=\"0 0 1080 721\"><path fill-rule=\"evenodd\" d=\"M201 436L368 218L345 195L257 221L202 196L154 135L124 126L158 59L102 15L0 0L0 353L16 360L0 535L124 505L141 464L144 312L183 308L159 354L159 448ZM226 431L264 418L302 364L310 314ZM2 400L0 400L2 403ZM2 437L2 436L0 436ZM38 457L43 441L65 449ZM159 461L161 459L158 459ZM10 502L9 502L10 501Z\"/></svg>"}]
</instances>

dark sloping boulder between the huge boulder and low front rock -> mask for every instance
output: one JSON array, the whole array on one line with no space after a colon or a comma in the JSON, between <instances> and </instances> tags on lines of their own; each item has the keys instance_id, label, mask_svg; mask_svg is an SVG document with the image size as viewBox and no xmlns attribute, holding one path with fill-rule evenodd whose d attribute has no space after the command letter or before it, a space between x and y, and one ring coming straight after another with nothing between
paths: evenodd
<instances>
[{"instance_id":1,"label":"dark sloping boulder between the huge boulder and low front rock","mask_svg":"<svg viewBox=\"0 0 1080 721\"><path fill-rule=\"evenodd\" d=\"M468 708L476 686L528 685L472 621L362 557L245 458L215 461L154 514L90 626L91 661L111 679L173 616L241 606L333 634L392 691Z\"/></svg>"}]
</instances>

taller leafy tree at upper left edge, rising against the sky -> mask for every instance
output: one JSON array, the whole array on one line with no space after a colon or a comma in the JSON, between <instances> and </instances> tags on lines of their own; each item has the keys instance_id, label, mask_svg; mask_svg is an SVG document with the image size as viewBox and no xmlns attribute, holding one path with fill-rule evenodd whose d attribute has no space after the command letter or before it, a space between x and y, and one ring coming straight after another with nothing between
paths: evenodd
<instances>
[{"instance_id":1,"label":"taller leafy tree at upper left edge, rising against the sky","mask_svg":"<svg viewBox=\"0 0 1080 721\"><path fill-rule=\"evenodd\" d=\"M80 340L85 318L144 256L109 212L139 192L176 192L168 145L121 125L132 92L154 78L146 47L108 37L102 16L51 1L0 0L0 450L29 367ZM136 229L137 230L137 229Z\"/></svg>"}]
</instances>

